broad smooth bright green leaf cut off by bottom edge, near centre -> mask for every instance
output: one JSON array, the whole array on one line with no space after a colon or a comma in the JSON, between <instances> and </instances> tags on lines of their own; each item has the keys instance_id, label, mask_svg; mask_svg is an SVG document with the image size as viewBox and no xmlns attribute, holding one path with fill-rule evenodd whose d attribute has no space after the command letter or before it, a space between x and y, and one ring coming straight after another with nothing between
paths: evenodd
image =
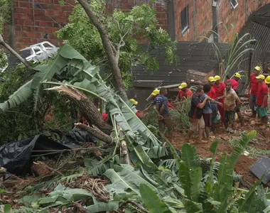
<instances>
[{"instance_id":1,"label":"broad smooth bright green leaf cut off by bottom edge, near centre","mask_svg":"<svg viewBox=\"0 0 270 213\"><path fill-rule=\"evenodd\" d=\"M168 211L168 207L166 204L161 202L161 200L158 198L155 192L151 190L148 185L141 184L140 185L140 193L141 198L144 201L144 204L146 205L146 208L149 210L150 213L156 213L156 212L166 212Z\"/></svg>"}]
</instances>

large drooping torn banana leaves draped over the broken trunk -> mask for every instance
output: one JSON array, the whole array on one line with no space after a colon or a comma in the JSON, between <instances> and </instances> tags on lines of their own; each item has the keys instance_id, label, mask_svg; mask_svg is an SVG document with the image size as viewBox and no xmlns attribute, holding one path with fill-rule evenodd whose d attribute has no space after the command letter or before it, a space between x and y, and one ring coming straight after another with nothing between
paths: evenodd
<instances>
[{"instance_id":1,"label":"large drooping torn banana leaves draped over the broken trunk","mask_svg":"<svg viewBox=\"0 0 270 213\"><path fill-rule=\"evenodd\" d=\"M165 155L163 143L158 141L135 115L136 108L132 107L131 102L124 102L117 92L102 80L99 67L92 65L91 61L86 60L70 45L64 45L49 64L38 65L34 69L38 72L33 76L33 80L23 85L2 103L0 105L2 110L16 107L31 96L35 97L36 108L38 108L44 89L72 86L90 98L95 97L106 102L112 124L119 125L124 131L134 162L153 168L154 164L150 158L160 158Z\"/></svg>"}]
</instances>

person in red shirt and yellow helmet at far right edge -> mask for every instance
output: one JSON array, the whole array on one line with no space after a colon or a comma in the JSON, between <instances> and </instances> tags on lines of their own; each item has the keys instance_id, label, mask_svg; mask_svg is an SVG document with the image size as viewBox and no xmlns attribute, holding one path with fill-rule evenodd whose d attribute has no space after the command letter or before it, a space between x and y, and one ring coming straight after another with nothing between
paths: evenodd
<instances>
[{"instance_id":1,"label":"person in red shirt and yellow helmet at far right edge","mask_svg":"<svg viewBox=\"0 0 270 213\"><path fill-rule=\"evenodd\" d=\"M267 104L268 104L268 88L264 82L264 75L258 75L257 80L259 82L258 94L257 94L257 113L258 117L261 119L261 124L267 124Z\"/></svg>"}]
</instances>

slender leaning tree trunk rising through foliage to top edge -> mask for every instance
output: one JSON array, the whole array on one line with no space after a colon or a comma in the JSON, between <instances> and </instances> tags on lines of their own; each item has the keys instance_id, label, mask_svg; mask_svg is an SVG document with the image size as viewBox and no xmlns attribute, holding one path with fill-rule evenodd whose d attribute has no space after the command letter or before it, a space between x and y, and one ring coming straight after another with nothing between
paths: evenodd
<instances>
[{"instance_id":1,"label":"slender leaning tree trunk rising through foliage to top edge","mask_svg":"<svg viewBox=\"0 0 270 213\"><path fill-rule=\"evenodd\" d=\"M122 97L122 99L127 100L126 92L124 90L123 80L121 77L121 72L120 72L120 69L118 67L117 57L114 54L114 51L112 50L112 45L111 45L111 42L109 40L109 35L106 31L106 28L105 28L104 24L101 21L99 21L99 18L97 17L95 12L92 11L92 9L91 9L90 5L87 3L87 1L78 0L78 2L80 3L82 8L87 13L87 16L90 19L90 21L97 28L97 31L99 31L99 35L102 39L103 48L105 50L105 53L107 55L107 59L109 61L109 66L112 69L112 76L114 77L114 82L115 82L114 87L116 87L116 89L119 90L120 96Z\"/></svg>"}]
</instances>

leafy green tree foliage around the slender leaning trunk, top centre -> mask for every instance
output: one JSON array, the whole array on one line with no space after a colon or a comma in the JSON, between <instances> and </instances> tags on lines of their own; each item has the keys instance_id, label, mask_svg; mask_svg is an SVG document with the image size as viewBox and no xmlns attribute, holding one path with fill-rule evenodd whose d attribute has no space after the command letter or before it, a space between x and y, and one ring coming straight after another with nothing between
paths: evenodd
<instances>
[{"instance_id":1,"label":"leafy green tree foliage around the slender leaning trunk, top centre","mask_svg":"<svg viewBox=\"0 0 270 213\"><path fill-rule=\"evenodd\" d=\"M118 54L119 48L119 68L126 88L131 86L131 70L134 64L145 65L146 70L151 72L158 69L158 60L148 55L151 50L163 47L166 63L172 64L176 61L175 42L165 30L158 27L156 11L151 9L150 5L134 6L130 12L115 9L111 15L104 13L102 1L90 1L90 6L104 23L115 54ZM80 5L75 6L69 21L70 23L56 33L58 38L68 42L87 60L92 60L95 65L101 65L102 70L110 73L97 28L89 21ZM148 48L143 50L136 38L148 40Z\"/></svg>"}]
</instances>

